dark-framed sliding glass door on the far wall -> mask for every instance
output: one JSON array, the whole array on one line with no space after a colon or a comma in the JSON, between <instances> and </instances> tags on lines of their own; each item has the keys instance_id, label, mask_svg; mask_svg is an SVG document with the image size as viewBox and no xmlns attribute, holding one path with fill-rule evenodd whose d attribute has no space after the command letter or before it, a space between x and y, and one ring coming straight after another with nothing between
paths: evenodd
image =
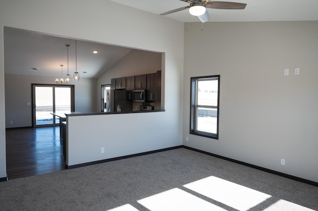
<instances>
[{"instance_id":1,"label":"dark-framed sliding glass door on the far wall","mask_svg":"<svg viewBox=\"0 0 318 211\"><path fill-rule=\"evenodd\" d=\"M33 126L53 126L60 118L52 113L74 111L74 85L32 84Z\"/></svg>"}]
</instances>

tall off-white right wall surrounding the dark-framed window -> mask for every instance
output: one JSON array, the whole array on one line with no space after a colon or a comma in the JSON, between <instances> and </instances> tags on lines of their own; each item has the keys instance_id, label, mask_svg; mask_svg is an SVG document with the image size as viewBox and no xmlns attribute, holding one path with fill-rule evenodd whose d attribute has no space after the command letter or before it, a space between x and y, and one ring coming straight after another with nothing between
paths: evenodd
<instances>
[{"instance_id":1,"label":"tall off-white right wall surrounding the dark-framed window","mask_svg":"<svg viewBox=\"0 0 318 211\"><path fill-rule=\"evenodd\" d=\"M317 37L318 21L185 24L183 144L318 182ZM216 74L219 140L189 134L190 77Z\"/></svg>"}]
</instances>

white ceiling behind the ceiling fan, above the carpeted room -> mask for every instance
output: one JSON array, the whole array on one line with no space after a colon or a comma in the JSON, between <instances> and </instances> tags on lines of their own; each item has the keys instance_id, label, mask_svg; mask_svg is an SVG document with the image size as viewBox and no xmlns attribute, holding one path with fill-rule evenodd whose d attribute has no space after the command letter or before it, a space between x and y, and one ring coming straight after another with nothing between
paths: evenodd
<instances>
[{"instance_id":1,"label":"white ceiling behind the ceiling fan, above the carpeted room","mask_svg":"<svg viewBox=\"0 0 318 211\"><path fill-rule=\"evenodd\" d=\"M155 14L188 6L184 0L112 0ZM213 1L213 0L210 0ZM246 3L245 9L207 9L210 22L229 21L300 21L318 20L318 0L222 0ZM198 22L199 19L185 9L165 15L181 22Z\"/></svg>"}]
</instances>

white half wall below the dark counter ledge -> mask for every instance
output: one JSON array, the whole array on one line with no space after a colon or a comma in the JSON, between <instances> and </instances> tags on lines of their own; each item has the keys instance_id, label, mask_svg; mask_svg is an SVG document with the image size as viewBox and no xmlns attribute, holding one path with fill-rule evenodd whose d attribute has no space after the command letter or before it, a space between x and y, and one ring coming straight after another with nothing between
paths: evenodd
<instances>
[{"instance_id":1,"label":"white half wall below the dark counter ledge","mask_svg":"<svg viewBox=\"0 0 318 211\"><path fill-rule=\"evenodd\" d=\"M179 146L182 143L174 126L166 126L177 124L177 118L172 123L168 119L169 112L68 117L66 163L71 166Z\"/></svg>"}]
</instances>

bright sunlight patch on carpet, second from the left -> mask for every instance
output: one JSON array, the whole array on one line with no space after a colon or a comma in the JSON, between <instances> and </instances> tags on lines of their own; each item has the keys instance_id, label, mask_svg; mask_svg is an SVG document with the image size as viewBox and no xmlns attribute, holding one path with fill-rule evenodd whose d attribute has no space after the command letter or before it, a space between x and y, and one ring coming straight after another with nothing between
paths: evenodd
<instances>
[{"instance_id":1,"label":"bright sunlight patch on carpet, second from the left","mask_svg":"<svg viewBox=\"0 0 318 211\"><path fill-rule=\"evenodd\" d=\"M137 202L151 211L225 211L178 188L161 192Z\"/></svg>"}]
</instances>

